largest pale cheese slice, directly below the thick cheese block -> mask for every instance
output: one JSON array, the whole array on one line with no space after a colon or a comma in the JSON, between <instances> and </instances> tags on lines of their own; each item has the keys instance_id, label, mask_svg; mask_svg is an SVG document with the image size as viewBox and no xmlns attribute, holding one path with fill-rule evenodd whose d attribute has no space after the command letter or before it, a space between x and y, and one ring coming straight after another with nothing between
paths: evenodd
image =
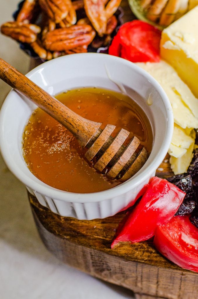
<instances>
[{"instance_id":1,"label":"largest pale cheese slice, directly below the thick cheese block","mask_svg":"<svg viewBox=\"0 0 198 299\"><path fill-rule=\"evenodd\" d=\"M174 122L184 129L198 128L198 99L172 66L164 60L136 64L150 73L166 92L173 108Z\"/></svg>"}]
</instances>

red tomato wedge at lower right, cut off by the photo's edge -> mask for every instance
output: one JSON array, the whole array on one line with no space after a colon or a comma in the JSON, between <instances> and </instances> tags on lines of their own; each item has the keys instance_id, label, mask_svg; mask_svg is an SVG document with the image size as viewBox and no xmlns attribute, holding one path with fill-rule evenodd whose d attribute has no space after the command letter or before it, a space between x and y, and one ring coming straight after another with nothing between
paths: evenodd
<instances>
[{"instance_id":1,"label":"red tomato wedge at lower right, cut off by the photo's edge","mask_svg":"<svg viewBox=\"0 0 198 299\"><path fill-rule=\"evenodd\" d=\"M156 229L154 245L176 265L198 272L198 229L189 216L174 216Z\"/></svg>"}]
</instances>

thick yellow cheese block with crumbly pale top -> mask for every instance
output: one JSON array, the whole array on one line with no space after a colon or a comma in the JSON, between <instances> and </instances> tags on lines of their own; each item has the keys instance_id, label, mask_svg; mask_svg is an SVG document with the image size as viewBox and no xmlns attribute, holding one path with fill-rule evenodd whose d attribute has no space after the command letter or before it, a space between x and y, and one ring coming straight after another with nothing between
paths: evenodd
<instances>
[{"instance_id":1,"label":"thick yellow cheese block with crumbly pale top","mask_svg":"<svg viewBox=\"0 0 198 299\"><path fill-rule=\"evenodd\" d=\"M198 97L198 6L162 31L161 57ZM191 108L192 109L192 108Z\"/></svg>"}]
</instances>

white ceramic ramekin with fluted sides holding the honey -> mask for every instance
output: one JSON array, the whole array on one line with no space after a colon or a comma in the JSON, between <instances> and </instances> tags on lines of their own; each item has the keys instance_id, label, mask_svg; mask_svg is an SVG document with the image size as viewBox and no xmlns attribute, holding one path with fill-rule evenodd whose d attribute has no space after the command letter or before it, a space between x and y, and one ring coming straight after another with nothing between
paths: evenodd
<instances>
[{"instance_id":1,"label":"white ceramic ramekin with fluted sides holding the honey","mask_svg":"<svg viewBox=\"0 0 198 299\"><path fill-rule=\"evenodd\" d=\"M122 84L150 119L153 149L142 169L117 187L86 194L57 190L37 179L25 164L22 133L36 106L12 90L0 112L0 149L11 172L41 205L62 216L88 220L105 218L118 213L130 202L132 204L144 184L155 175L172 138L173 112L161 86L132 62L98 53L67 55L45 62L30 71L27 77L53 95L84 86L120 91L118 86ZM151 105L148 105L148 98L152 99Z\"/></svg>"}]
</instances>

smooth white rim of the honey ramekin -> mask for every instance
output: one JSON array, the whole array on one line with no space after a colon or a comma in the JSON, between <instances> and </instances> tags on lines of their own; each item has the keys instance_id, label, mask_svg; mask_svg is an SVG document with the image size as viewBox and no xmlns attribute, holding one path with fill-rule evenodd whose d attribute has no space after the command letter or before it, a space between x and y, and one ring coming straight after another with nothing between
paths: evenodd
<instances>
[{"instance_id":1,"label":"smooth white rim of the honey ramekin","mask_svg":"<svg viewBox=\"0 0 198 299\"><path fill-rule=\"evenodd\" d=\"M97 56L96 56L97 55ZM117 197L120 196L124 193L129 192L133 188L137 187L140 185L142 182L145 181L146 178L150 177L152 173L156 171L156 169L159 167L160 163L163 161L165 155L167 154L168 148L170 146L170 142L172 139L172 134L173 134L173 111L172 107L170 104L170 101L165 93L165 91L162 89L160 84L150 75L148 74L145 70L140 68L139 66L133 64L132 62L125 60L120 57L115 57L109 54L99 54L99 53L80 53L80 54L75 54L75 57L77 56L96 56L96 59L98 58L98 55L100 56L108 56L109 59L115 60L116 61L122 61L123 64L131 66L136 70L139 74L141 74L143 77L145 77L146 80L150 81L152 86L159 92L163 104L165 106L166 110L166 115L167 115L167 129L166 129L166 135L163 140L163 143L161 144L160 151L156 157L150 161L148 158L147 162L145 163L145 166L147 167L144 170L141 170L140 173L135 175L135 177L132 177L131 179L123 182L122 184L113 187L108 190L104 191L99 191L95 193L72 193L68 191L62 191L58 190L54 187L51 187L39 179L33 181L30 177L33 176L35 179L35 176L30 172L30 177L24 176L24 173L20 170L20 168L13 167L12 162L10 160L10 157L7 155L7 148L4 143L4 133L3 133L3 123L4 123L4 112L7 109L7 102L9 100L9 97L12 96L12 92L15 92L11 90L9 94L7 95L0 111L0 150L1 154L4 158L5 163L7 164L7 167L10 169L10 171L20 180L22 181L23 184L25 184L27 187L30 187L31 189L35 190L36 192L43 194L45 196L49 196L53 199L61 200L63 202L78 202L78 203L85 203L85 202L99 202L103 200L108 200L112 197ZM70 56L70 55L68 55ZM50 60L47 62L42 63L41 65L37 66L30 72L26 74L28 78L30 78L35 72L38 72L41 68L45 67L45 65L53 65L56 63L56 60L65 60L68 59L68 56L63 56L63 57L58 57L54 60ZM83 58L82 58L83 59ZM155 141L154 141L155 143ZM154 145L154 144L153 144ZM27 167L28 168L28 167Z\"/></svg>"}]
</instances>

